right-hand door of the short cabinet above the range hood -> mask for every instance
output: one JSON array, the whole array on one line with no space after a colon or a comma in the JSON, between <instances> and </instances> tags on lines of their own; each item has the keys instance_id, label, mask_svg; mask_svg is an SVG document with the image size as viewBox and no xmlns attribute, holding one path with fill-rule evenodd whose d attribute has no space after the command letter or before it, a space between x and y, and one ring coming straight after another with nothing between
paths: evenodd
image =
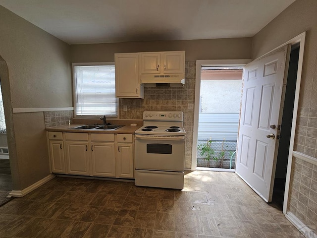
<instances>
[{"instance_id":1,"label":"right-hand door of the short cabinet above the range hood","mask_svg":"<svg viewBox=\"0 0 317 238\"><path fill-rule=\"evenodd\" d=\"M163 53L164 73L184 73L185 54L184 52L165 52Z\"/></svg>"}]
</instances>

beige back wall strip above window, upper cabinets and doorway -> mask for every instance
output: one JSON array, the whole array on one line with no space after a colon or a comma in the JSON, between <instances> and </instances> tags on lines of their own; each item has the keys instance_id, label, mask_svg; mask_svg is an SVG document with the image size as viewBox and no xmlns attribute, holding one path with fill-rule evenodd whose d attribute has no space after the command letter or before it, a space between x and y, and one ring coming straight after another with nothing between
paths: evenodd
<instances>
[{"instance_id":1,"label":"beige back wall strip above window, upper cabinets and doorway","mask_svg":"<svg viewBox=\"0 0 317 238\"><path fill-rule=\"evenodd\" d=\"M252 38L72 45L72 62L113 62L114 53L186 51L186 61L251 59Z\"/></svg>"}]
</instances>

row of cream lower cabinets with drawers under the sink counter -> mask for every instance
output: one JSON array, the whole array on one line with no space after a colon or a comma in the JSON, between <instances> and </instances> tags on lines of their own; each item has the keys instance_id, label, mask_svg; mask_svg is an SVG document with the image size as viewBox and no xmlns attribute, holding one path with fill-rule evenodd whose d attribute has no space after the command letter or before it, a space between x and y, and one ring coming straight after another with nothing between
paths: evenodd
<instances>
[{"instance_id":1,"label":"row of cream lower cabinets with drawers under the sink counter","mask_svg":"<svg viewBox=\"0 0 317 238\"><path fill-rule=\"evenodd\" d=\"M134 178L132 134L50 133L48 142L53 173ZM60 134L56 136L56 133Z\"/></svg>"}]
</instances>

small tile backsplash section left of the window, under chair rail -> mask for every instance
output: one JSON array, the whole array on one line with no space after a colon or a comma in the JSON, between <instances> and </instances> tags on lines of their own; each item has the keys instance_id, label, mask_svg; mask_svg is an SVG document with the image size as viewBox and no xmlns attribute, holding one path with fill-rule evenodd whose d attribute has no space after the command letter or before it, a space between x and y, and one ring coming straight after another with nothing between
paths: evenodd
<instances>
[{"instance_id":1,"label":"small tile backsplash section left of the window, under chair rail","mask_svg":"<svg viewBox=\"0 0 317 238\"><path fill-rule=\"evenodd\" d=\"M45 128L57 125L67 125L68 120L72 121L73 111L50 111L44 112Z\"/></svg>"}]
</instances>

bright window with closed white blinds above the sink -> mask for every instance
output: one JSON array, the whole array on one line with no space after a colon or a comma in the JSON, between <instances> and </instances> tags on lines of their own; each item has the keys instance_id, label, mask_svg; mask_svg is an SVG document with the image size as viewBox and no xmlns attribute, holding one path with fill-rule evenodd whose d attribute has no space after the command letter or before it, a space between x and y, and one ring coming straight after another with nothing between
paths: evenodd
<instances>
[{"instance_id":1,"label":"bright window with closed white blinds above the sink","mask_svg":"<svg viewBox=\"0 0 317 238\"><path fill-rule=\"evenodd\" d=\"M73 64L75 117L118 117L114 63Z\"/></svg>"}]
</instances>

